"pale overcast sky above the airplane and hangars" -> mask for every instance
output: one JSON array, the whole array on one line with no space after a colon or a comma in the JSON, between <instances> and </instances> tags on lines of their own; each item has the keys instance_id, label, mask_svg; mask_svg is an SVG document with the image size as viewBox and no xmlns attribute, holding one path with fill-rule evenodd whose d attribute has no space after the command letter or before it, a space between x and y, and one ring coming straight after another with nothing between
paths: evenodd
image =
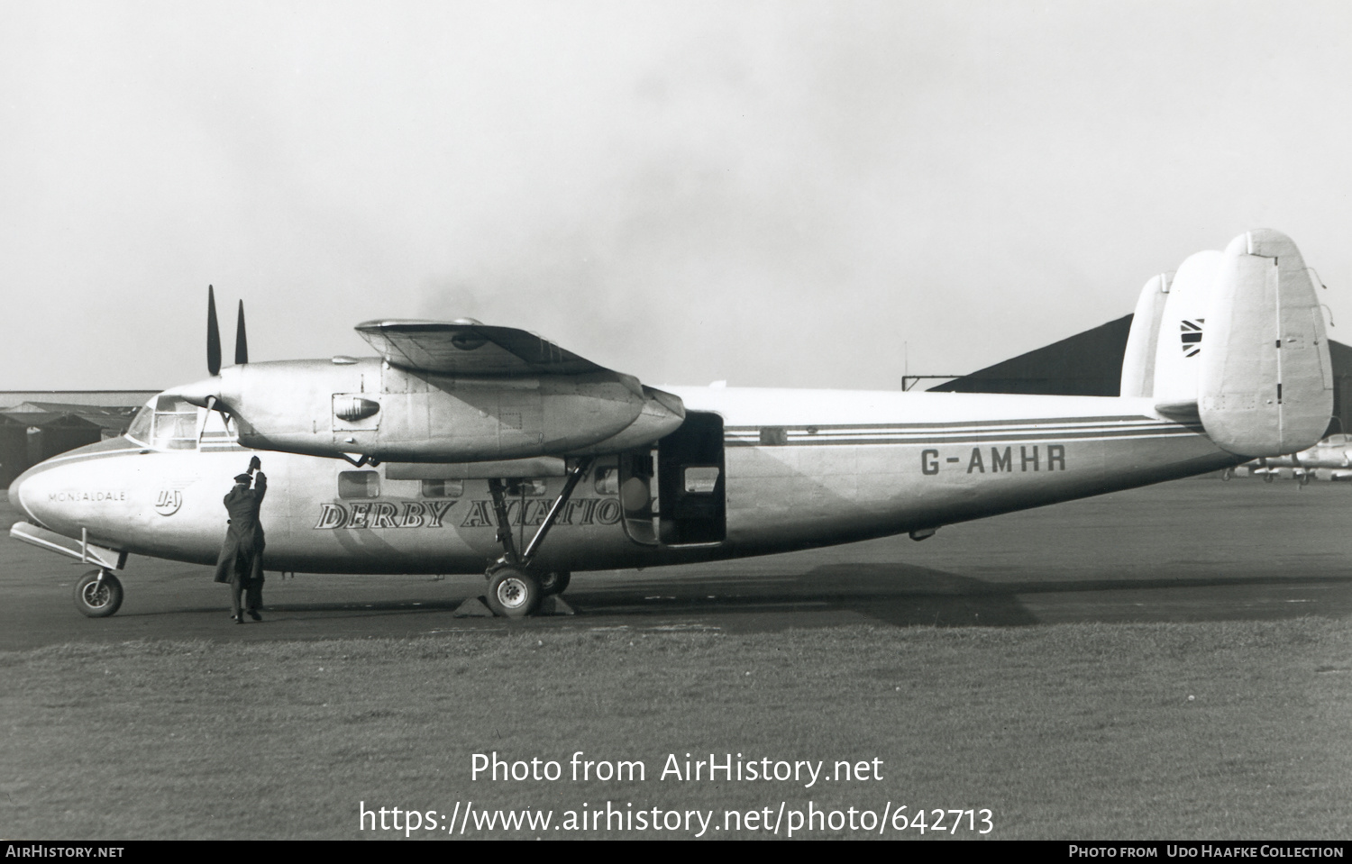
<instances>
[{"instance_id":1,"label":"pale overcast sky above the airplane and hangars","mask_svg":"<svg viewBox=\"0 0 1352 864\"><path fill-rule=\"evenodd\" d=\"M1349 93L1341 0L0 0L0 389L203 377L208 283L253 360L472 315L895 388L1249 227L1352 343Z\"/></svg>"}]
</instances>

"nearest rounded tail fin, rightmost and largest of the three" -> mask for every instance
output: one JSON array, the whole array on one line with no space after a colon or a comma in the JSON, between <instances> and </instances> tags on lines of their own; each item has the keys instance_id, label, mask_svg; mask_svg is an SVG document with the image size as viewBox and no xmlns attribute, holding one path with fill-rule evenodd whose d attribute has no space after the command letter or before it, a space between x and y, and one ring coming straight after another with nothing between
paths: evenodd
<instances>
[{"instance_id":1,"label":"nearest rounded tail fin, rightmost and largest of the three","mask_svg":"<svg viewBox=\"0 0 1352 864\"><path fill-rule=\"evenodd\" d=\"M1198 395L1206 434L1230 453L1294 453L1328 429L1333 369L1324 312L1284 234L1248 231L1225 249Z\"/></svg>"}]
</instances>

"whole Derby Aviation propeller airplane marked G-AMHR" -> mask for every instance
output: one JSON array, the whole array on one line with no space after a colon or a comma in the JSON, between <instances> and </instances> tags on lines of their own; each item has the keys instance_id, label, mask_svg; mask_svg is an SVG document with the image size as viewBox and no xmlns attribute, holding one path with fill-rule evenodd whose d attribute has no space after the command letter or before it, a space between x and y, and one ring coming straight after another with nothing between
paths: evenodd
<instances>
[{"instance_id":1,"label":"whole Derby Aviation propeller airplane marked G-AMHR","mask_svg":"<svg viewBox=\"0 0 1352 864\"><path fill-rule=\"evenodd\" d=\"M1149 280L1121 395L652 388L472 319L357 327L379 357L220 368L164 391L127 434L9 487L11 535L95 569L107 617L131 554L212 564L222 495L270 479L265 567L484 573L498 615L572 572L696 564L909 534L1310 448L1333 377L1317 280L1271 230Z\"/></svg>"}]
</instances>

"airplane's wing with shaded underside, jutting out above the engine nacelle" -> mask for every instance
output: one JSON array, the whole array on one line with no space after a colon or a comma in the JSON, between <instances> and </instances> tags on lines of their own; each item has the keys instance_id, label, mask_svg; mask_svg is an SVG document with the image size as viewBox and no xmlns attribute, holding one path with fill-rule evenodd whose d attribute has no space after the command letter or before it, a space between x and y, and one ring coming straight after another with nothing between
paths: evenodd
<instances>
[{"instance_id":1,"label":"airplane's wing with shaded underside, jutting out above the engine nacelle","mask_svg":"<svg viewBox=\"0 0 1352 864\"><path fill-rule=\"evenodd\" d=\"M357 333L389 365L442 375L584 375L611 372L515 327L476 320L368 320Z\"/></svg>"}]
</instances>

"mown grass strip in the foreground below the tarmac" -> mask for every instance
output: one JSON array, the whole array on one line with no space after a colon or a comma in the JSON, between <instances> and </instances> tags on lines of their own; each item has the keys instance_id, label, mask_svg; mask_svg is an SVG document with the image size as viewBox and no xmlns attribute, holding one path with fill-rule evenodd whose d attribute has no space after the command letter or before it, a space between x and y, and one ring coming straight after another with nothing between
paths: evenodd
<instances>
[{"instance_id":1,"label":"mown grass strip in the foreground below the tarmac","mask_svg":"<svg viewBox=\"0 0 1352 864\"><path fill-rule=\"evenodd\" d=\"M0 653L0 680L7 838L388 838L361 802L446 821L470 800L554 823L811 800L990 809L998 838L1352 836L1344 621L65 645ZM573 782L577 750L646 777ZM564 776L472 780L491 752ZM882 779L662 780L672 753L877 759Z\"/></svg>"}]
</instances>

